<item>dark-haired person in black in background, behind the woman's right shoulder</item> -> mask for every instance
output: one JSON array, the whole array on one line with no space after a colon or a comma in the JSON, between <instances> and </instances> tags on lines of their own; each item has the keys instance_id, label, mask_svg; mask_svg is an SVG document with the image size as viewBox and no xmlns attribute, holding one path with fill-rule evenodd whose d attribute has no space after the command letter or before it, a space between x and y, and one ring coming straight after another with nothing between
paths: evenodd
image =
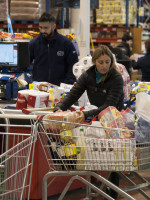
<instances>
[{"instance_id":1,"label":"dark-haired person in black in background, behind the woman's right shoulder","mask_svg":"<svg viewBox=\"0 0 150 200\"><path fill-rule=\"evenodd\" d=\"M125 33L122 37L122 42L117 47L121 48L124 51L124 54L128 57L131 56L131 47L133 43L133 37Z\"/></svg>"}]
</instances>

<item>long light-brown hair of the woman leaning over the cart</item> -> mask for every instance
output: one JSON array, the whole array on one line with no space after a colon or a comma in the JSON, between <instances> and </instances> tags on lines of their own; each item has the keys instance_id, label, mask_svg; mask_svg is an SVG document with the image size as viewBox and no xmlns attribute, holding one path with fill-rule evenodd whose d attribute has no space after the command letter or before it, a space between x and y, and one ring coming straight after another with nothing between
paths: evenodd
<instances>
[{"instance_id":1,"label":"long light-brown hair of the woman leaning over the cart","mask_svg":"<svg viewBox=\"0 0 150 200\"><path fill-rule=\"evenodd\" d=\"M111 68L115 68L116 69L116 64L115 64L115 59L114 59L114 56L112 54L112 52L110 51L110 49L105 46L105 45L100 45L93 53L93 56L92 56L92 62L93 64L96 63L96 60L100 57L100 56L103 56L103 55L107 55L108 57L110 57L111 59L111 64L110 64L110 69Z\"/></svg>"}]
</instances>

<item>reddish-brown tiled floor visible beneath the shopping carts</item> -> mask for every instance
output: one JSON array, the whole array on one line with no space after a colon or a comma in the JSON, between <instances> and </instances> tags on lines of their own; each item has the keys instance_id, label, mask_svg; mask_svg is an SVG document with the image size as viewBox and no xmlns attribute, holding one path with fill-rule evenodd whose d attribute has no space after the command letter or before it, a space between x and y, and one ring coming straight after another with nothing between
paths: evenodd
<instances>
[{"instance_id":1,"label":"reddish-brown tiled floor visible beneath the shopping carts","mask_svg":"<svg viewBox=\"0 0 150 200\"><path fill-rule=\"evenodd\" d=\"M150 169L148 170L143 170L143 171L138 171L138 173L145 178L148 182L150 182ZM130 179L132 179L133 181L136 182L136 184L138 184L138 180L137 178L135 178L132 174L129 174L128 177ZM123 187L129 187L129 185L131 186L131 184L127 183L126 181L124 181L122 178L120 179L120 188ZM145 188L144 191L146 192L146 194L149 196L150 199L150 187ZM132 192L128 192L128 194L130 194L134 199L136 200L144 200L146 199L143 195L140 194L140 192L138 190L136 191L132 191ZM64 200L80 200L83 199L85 197L85 189L81 188L78 190L73 190L70 191L66 194L66 196L64 197ZM59 198L59 196L53 196L48 198L48 200L57 200ZM92 200L102 200L103 198L98 196L95 198L92 198ZM119 196L117 198L117 200L126 200L126 198L123 198L121 196Z\"/></svg>"}]
</instances>

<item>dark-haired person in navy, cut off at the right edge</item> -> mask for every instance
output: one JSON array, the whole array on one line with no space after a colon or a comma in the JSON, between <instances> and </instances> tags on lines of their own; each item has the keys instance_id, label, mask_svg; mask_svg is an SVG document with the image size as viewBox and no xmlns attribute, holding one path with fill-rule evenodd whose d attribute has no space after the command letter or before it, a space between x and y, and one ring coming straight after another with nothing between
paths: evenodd
<instances>
[{"instance_id":1,"label":"dark-haired person in navy, cut off at the right edge","mask_svg":"<svg viewBox=\"0 0 150 200\"><path fill-rule=\"evenodd\" d=\"M142 81L150 82L150 39L145 41L145 56L135 61L134 55L130 56L133 69L139 69L142 73Z\"/></svg>"}]
</instances>

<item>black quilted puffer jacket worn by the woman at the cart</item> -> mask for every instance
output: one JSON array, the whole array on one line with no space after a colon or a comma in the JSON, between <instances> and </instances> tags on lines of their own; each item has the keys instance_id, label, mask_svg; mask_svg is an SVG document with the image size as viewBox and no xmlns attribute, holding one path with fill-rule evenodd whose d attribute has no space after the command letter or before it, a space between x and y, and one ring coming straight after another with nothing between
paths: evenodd
<instances>
[{"instance_id":1,"label":"black quilted puffer jacket worn by the woman at the cart","mask_svg":"<svg viewBox=\"0 0 150 200\"><path fill-rule=\"evenodd\" d=\"M95 116L108 106L115 106L118 110L123 109L123 79L121 74L112 68L104 82L96 83L95 66L85 71L72 87L69 94L60 101L55 110L67 110L80 96L87 91L89 101L98 107L90 111L83 111L85 118Z\"/></svg>"}]
</instances>

